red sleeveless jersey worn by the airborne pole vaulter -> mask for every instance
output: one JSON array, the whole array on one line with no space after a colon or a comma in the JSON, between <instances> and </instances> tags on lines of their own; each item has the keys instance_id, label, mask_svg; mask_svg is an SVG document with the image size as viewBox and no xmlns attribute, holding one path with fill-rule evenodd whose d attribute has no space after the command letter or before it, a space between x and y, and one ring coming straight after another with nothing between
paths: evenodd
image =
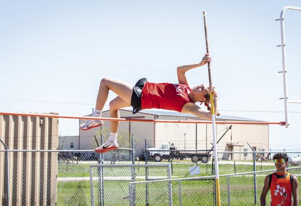
<instances>
[{"instance_id":1,"label":"red sleeveless jersey worn by the airborne pole vaulter","mask_svg":"<svg viewBox=\"0 0 301 206\"><path fill-rule=\"evenodd\" d=\"M184 84L146 82L141 95L142 109L165 109L181 112L188 102L190 88Z\"/></svg>"}]
</instances>

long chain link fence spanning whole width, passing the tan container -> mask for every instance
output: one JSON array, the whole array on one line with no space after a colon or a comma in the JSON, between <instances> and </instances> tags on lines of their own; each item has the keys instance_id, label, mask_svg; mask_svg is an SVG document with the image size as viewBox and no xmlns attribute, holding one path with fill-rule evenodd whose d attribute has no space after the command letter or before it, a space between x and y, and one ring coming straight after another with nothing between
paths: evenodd
<instances>
[{"instance_id":1,"label":"long chain link fence spanning whole width, passing the tan container","mask_svg":"<svg viewBox=\"0 0 301 206\"><path fill-rule=\"evenodd\" d=\"M204 163L202 158L207 153L208 161ZM166 165L170 167L171 178L186 178L183 180L174 180L171 185L171 196L174 205L214 205L215 194L214 177L199 178L200 176L209 176L214 174L212 152L204 150L170 150L169 158L162 158L161 162L155 159L149 159L148 153L146 161L137 161L136 164L149 164L148 167L156 165ZM300 169L293 168L298 164L300 152L287 152L290 156L288 167L289 172L300 175ZM171 155L174 154L174 155ZM252 205L255 202L255 192L261 192L264 177L271 172L261 172L261 170L275 169L271 160L273 152L219 152L219 170L222 205ZM191 155L196 155L193 158ZM203 156L201 156L203 155ZM90 165L129 165L133 162L132 149L119 149L104 153L103 155L95 154L93 150L0 150L0 205L7 205L7 197L10 198L10 206L14 205L56 205L57 206L89 206L91 205L91 182L90 182ZM262 158L264 157L264 159ZM8 161L5 160L8 158ZM197 160L197 161L195 161ZM3 166L3 167L2 167ZM6 168L9 174L6 175ZM256 170L256 179L254 171ZM111 172L111 174L105 172ZM167 173L164 175L152 174L148 169L146 177L146 168L135 169L135 181L167 179ZM252 172L240 174L242 172ZM98 170L96 169L96 172ZM113 174L113 173L116 174ZM107 177L120 176L132 177L131 170L126 173L121 170L107 169L103 174ZM225 176L223 174L231 174ZM99 174L96 175L96 183ZM94 175L94 176L95 176ZM98 175L98 176L97 176ZM157 178L155 178L157 176ZM164 178L163 178L164 176ZM7 178L8 177L8 178ZM191 179L192 178L192 179ZM111 178L112 179L112 178ZM105 179L104 179L105 180ZM254 181L255 185L254 185ZM127 187L125 191L129 192L129 183L132 179L124 180ZM106 182L106 180L105 180ZM119 188L116 184L118 181L111 181L108 189ZM7 183L9 183L7 185ZM98 181L99 183L99 181ZM114 184L113 184L114 183ZM138 184L138 183L137 183ZM147 183L136 185L134 201L136 205L169 205L169 182ZM9 189L7 190L7 188ZM257 190L254 190L254 187ZM100 187L98 187L100 188ZM131 193L126 196L120 193L118 189L109 189L104 193L104 205L127 205ZM104 190L105 191L105 190ZM97 194L95 191L94 194ZM118 198L125 198L120 202L107 198L109 193ZM117 195L116 195L117 194ZM202 198L200 198L200 195ZM101 196L100 196L101 197ZM132 197L132 196L131 196ZM230 199L229 199L230 197ZM256 195L257 204L259 195ZM106 202L107 201L107 202ZM122 202L122 203L121 203ZM94 201L99 203L99 198Z\"/></svg>"}]
</instances>

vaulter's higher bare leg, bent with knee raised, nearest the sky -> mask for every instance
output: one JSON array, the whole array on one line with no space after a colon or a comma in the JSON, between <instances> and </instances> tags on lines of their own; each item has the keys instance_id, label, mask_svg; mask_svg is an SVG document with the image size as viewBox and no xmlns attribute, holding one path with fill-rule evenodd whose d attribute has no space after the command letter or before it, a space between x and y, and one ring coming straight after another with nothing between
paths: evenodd
<instances>
[{"instance_id":1,"label":"vaulter's higher bare leg, bent with knee raised, nearest the sky","mask_svg":"<svg viewBox=\"0 0 301 206\"><path fill-rule=\"evenodd\" d=\"M114 105L114 108L119 107L117 106L119 104L125 105L127 103L127 105L124 107L128 107L131 105L131 98L132 98L132 91L133 91L133 86L131 84L112 78L103 78L99 85L95 109L97 110L103 109L108 99L109 90L113 91L115 94L117 94L121 99L125 101L122 102L121 100L116 100L116 103L113 103L116 104L116 106Z\"/></svg>"}]
</instances>

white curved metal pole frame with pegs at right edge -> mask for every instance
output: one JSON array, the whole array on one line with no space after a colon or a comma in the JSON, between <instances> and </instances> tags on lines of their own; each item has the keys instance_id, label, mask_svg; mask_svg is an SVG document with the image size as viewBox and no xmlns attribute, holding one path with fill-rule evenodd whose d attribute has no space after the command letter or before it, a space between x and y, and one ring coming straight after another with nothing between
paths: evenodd
<instances>
[{"instance_id":1,"label":"white curved metal pole frame with pegs at right edge","mask_svg":"<svg viewBox=\"0 0 301 206\"><path fill-rule=\"evenodd\" d=\"M282 76L283 76L283 93L284 93L284 113L285 113L285 127L288 128L288 112L287 112L287 103L301 103L301 100L294 100L287 98L287 79L286 79L286 56L285 56L285 38L284 38L284 12L287 9L301 11L301 7L296 6L285 6L280 14L280 27L281 27L281 46L282 47ZM282 98L281 98L282 99Z\"/></svg>"}]
</instances>

